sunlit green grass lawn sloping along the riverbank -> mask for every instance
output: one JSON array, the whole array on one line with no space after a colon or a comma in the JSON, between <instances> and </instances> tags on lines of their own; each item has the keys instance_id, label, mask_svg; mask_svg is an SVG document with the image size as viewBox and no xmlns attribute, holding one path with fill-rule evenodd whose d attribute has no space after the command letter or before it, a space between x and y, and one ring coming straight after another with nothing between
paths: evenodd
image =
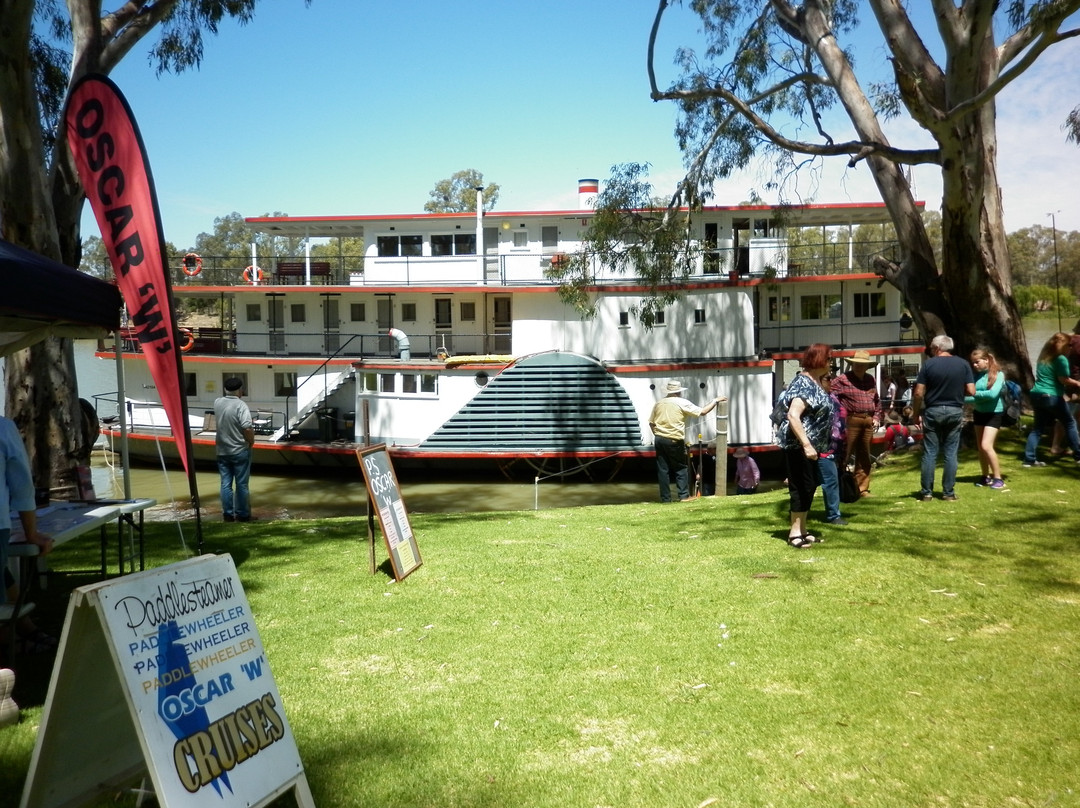
<instances>
[{"instance_id":1,"label":"sunlit green grass lawn sloping along the riverbank","mask_svg":"<svg viewBox=\"0 0 1080 808\"><path fill-rule=\"evenodd\" d=\"M362 516L207 523L205 551L235 560L320 808L1080 806L1080 468L1022 469L1018 440L1001 491L963 453L957 502L894 458L811 550L775 491L416 515L401 583ZM188 554L148 525L151 565ZM49 628L90 580L53 577ZM3 806L49 675L23 659Z\"/></svg>"}]
</instances>

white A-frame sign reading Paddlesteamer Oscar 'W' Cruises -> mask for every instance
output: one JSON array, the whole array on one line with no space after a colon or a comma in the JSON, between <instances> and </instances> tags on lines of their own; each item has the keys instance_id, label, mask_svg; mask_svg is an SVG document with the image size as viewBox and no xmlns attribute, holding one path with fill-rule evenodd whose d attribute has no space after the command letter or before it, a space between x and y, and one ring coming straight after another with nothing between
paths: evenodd
<instances>
[{"instance_id":1,"label":"white A-frame sign reading Paddlesteamer Oscar 'W' Cruises","mask_svg":"<svg viewBox=\"0 0 1080 808\"><path fill-rule=\"evenodd\" d=\"M260 808L287 791L314 808L229 555L68 602L19 806L82 805L139 777L162 808Z\"/></svg>"}]
</instances>

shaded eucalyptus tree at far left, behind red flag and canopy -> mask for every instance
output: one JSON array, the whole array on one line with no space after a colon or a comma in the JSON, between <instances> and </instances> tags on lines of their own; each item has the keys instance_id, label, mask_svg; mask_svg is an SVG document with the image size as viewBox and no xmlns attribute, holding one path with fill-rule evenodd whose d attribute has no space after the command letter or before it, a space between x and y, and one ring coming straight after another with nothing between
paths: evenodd
<instances>
[{"instance_id":1,"label":"shaded eucalyptus tree at far left, behind red flag and canopy","mask_svg":"<svg viewBox=\"0 0 1080 808\"><path fill-rule=\"evenodd\" d=\"M305 0L310 3L310 0ZM78 267L84 194L60 116L69 87L109 75L149 35L158 73L198 68L206 35L254 17L257 0L0 0L0 234ZM70 342L46 340L5 361L6 412L27 442L38 485L70 480L89 446Z\"/></svg>"}]
</instances>

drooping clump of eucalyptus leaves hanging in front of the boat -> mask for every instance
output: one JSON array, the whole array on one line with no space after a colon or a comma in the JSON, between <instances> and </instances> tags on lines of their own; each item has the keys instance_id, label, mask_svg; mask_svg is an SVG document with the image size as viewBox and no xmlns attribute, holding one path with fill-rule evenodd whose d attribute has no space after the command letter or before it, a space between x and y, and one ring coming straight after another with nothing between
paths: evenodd
<instances>
[{"instance_id":1,"label":"drooping clump of eucalyptus leaves hanging in front of the boat","mask_svg":"<svg viewBox=\"0 0 1080 808\"><path fill-rule=\"evenodd\" d=\"M582 238L581 250L545 275L559 282L563 300L583 317L596 313L591 296L596 268L640 280L647 291L631 307L646 328L657 312L674 302L691 270L686 250L689 218L661 207L648 183L649 166L626 163L611 169L611 177L596 198L596 213Z\"/></svg>"}]
</instances>

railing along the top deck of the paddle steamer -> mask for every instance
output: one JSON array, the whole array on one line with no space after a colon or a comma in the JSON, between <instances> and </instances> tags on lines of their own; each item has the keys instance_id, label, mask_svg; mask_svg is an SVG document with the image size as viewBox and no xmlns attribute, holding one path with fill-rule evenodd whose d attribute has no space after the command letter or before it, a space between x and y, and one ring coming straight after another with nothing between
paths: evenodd
<instances>
[{"instance_id":1,"label":"railing along the top deck of the paddle steamer","mask_svg":"<svg viewBox=\"0 0 1080 808\"><path fill-rule=\"evenodd\" d=\"M536 251L512 251L498 255L415 255L415 256L200 256L199 271L185 265L186 256L175 255L174 288L187 294L200 287L219 286L424 286L443 285L553 285L553 262L573 255L578 245ZM874 258L896 260L895 241L820 241L789 242L782 238L751 238L740 246L697 243L680 253L688 268L688 280L783 280L806 275L845 275L874 271ZM188 254L190 255L190 254ZM621 274L605 266L596 256L586 256L589 275L597 283L637 283L640 279ZM190 261L190 259L188 259Z\"/></svg>"}]
</instances>

